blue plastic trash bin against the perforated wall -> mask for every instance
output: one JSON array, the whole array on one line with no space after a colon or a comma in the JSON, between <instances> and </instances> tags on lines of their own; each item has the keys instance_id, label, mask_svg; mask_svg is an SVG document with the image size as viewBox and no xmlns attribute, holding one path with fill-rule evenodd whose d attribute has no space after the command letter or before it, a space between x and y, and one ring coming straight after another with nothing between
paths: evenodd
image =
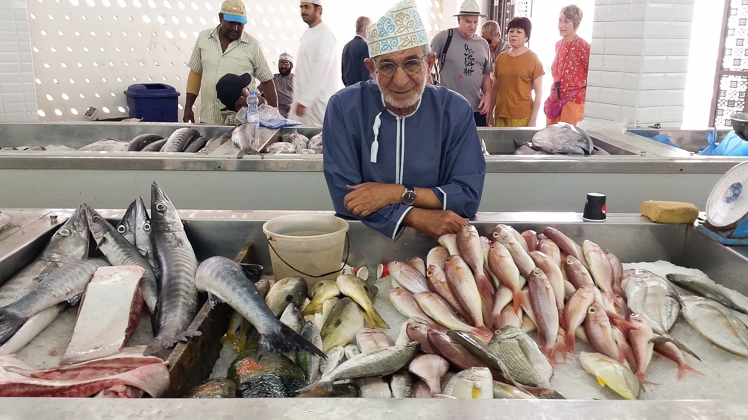
<instances>
[{"instance_id":1,"label":"blue plastic trash bin against the perforated wall","mask_svg":"<svg viewBox=\"0 0 748 420\"><path fill-rule=\"evenodd\" d=\"M177 123L180 93L163 83L131 84L125 90L128 116L148 123Z\"/></svg>"}]
</instances>

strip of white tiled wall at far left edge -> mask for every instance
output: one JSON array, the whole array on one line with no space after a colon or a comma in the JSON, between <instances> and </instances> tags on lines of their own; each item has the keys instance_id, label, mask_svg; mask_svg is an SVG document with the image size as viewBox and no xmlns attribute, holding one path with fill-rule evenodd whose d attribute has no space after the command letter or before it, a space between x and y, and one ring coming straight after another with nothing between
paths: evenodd
<instances>
[{"instance_id":1,"label":"strip of white tiled wall at far left edge","mask_svg":"<svg viewBox=\"0 0 748 420\"><path fill-rule=\"evenodd\" d=\"M37 121L25 0L0 0L0 122Z\"/></svg>"}]
</instances>

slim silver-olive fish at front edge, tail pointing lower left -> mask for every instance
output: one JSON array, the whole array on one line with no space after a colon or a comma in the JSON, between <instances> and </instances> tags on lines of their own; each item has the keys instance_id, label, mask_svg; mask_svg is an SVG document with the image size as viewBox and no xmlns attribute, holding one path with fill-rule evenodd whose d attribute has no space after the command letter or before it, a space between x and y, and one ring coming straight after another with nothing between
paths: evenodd
<instances>
[{"instance_id":1,"label":"slim silver-olive fish at front edge, tail pointing lower left","mask_svg":"<svg viewBox=\"0 0 748 420\"><path fill-rule=\"evenodd\" d=\"M418 343L410 342L405 345L395 345L362 353L353 359L348 359L322 376L316 383L312 383L298 392L322 386L329 389L336 380L353 379L356 377L381 377L393 374L408 364L418 353Z\"/></svg>"}]
</instances>

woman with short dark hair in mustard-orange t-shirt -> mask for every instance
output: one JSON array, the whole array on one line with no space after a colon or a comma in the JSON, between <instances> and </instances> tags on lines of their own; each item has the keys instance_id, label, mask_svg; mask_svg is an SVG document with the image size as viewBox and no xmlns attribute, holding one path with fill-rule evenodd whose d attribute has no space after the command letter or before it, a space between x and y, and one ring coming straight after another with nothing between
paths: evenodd
<instances>
[{"instance_id":1,"label":"woman with short dark hair in mustard-orange t-shirt","mask_svg":"<svg viewBox=\"0 0 748 420\"><path fill-rule=\"evenodd\" d=\"M545 72L538 55L525 46L533 24L526 17L515 17L506 28L511 48L496 58L494 94L488 115L493 117L494 127L535 126Z\"/></svg>"}]
</instances>

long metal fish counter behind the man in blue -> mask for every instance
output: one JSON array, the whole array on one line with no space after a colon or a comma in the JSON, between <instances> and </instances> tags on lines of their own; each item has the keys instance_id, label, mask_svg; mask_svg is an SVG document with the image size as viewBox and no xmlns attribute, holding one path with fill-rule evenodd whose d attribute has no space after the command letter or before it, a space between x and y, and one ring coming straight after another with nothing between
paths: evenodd
<instances>
[{"instance_id":1,"label":"long metal fish counter behind the man in blue","mask_svg":"<svg viewBox=\"0 0 748 420\"><path fill-rule=\"evenodd\" d=\"M97 138L168 136L174 123L0 123L0 146L58 143L80 147ZM193 125L202 135L224 135L227 126ZM285 130L285 131L283 131ZM282 129L292 132L292 129ZM307 137L319 129L300 128ZM610 211L638 211L644 200L705 206L709 191L740 158L700 158L637 135L591 133L610 155L512 155L534 128L479 129L491 155L480 211L580 211L586 193L608 194ZM224 147L224 146L221 146ZM171 152L0 151L3 206L104 208L121 198L148 195L158 181L194 209L331 210L321 155L246 155ZM195 194L200 191L200 194Z\"/></svg>"}]
</instances>

